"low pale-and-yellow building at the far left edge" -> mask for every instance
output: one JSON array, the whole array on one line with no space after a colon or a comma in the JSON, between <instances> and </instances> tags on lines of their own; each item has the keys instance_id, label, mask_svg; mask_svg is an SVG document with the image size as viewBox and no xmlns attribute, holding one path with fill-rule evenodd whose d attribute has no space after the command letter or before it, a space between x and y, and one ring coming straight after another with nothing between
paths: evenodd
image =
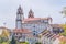
<instances>
[{"instance_id":1,"label":"low pale-and-yellow building at the far left edge","mask_svg":"<svg viewBox=\"0 0 66 44\"><path fill-rule=\"evenodd\" d=\"M0 26L0 37L3 37L3 40L10 40L10 29Z\"/></svg>"}]
</instances>

